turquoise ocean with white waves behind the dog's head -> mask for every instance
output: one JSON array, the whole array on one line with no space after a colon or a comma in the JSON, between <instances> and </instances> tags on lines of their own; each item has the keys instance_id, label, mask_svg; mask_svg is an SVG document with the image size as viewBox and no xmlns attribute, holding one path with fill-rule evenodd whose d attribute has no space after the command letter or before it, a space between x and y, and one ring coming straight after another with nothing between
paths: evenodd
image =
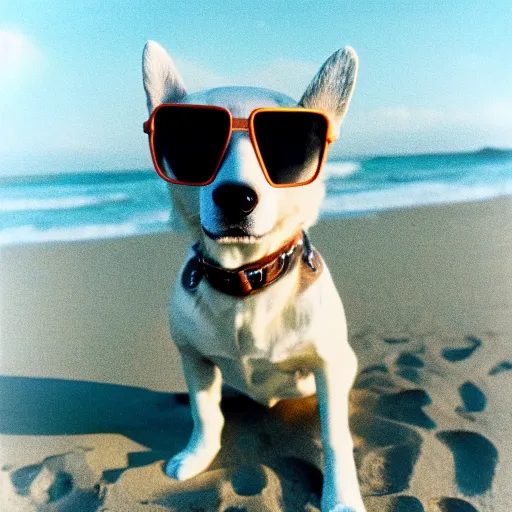
<instances>
[{"instance_id":1,"label":"turquoise ocean with white waves behind the dog's head","mask_svg":"<svg viewBox=\"0 0 512 512\"><path fill-rule=\"evenodd\" d=\"M512 150L329 160L321 215L377 214L512 195ZM0 245L179 229L154 171L0 179Z\"/></svg>"}]
</instances>

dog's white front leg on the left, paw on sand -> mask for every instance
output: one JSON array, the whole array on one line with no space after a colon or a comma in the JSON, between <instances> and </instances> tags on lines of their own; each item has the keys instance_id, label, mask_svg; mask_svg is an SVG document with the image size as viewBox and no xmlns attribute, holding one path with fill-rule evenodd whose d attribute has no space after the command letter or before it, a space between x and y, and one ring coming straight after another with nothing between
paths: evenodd
<instances>
[{"instance_id":1,"label":"dog's white front leg on the left, paw on sand","mask_svg":"<svg viewBox=\"0 0 512 512\"><path fill-rule=\"evenodd\" d=\"M194 428L184 450L165 468L168 476L186 480L204 471L220 450L224 417L220 410L220 370L192 348L180 347L183 372L190 396Z\"/></svg>"}]
</instances>

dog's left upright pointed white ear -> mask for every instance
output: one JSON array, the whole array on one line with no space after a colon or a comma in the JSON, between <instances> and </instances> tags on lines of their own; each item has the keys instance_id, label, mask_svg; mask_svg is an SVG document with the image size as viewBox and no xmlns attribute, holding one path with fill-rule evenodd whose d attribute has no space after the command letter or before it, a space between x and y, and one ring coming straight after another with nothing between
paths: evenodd
<instances>
[{"instance_id":1,"label":"dog's left upright pointed white ear","mask_svg":"<svg viewBox=\"0 0 512 512\"><path fill-rule=\"evenodd\" d=\"M187 94L173 61L155 41L144 46L142 75L150 114L160 103L177 103Z\"/></svg>"}]
</instances>

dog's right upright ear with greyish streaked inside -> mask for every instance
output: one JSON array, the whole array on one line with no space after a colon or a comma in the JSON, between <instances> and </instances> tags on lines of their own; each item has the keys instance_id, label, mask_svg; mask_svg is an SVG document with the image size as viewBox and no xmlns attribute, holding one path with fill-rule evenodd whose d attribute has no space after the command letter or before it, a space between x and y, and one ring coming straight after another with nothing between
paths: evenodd
<instances>
[{"instance_id":1,"label":"dog's right upright ear with greyish streaked inside","mask_svg":"<svg viewBox=\"0 0 512 512\"><path fill-rule=\"evenodd\" d=\"M336 135L339 134L356 85L357 65L357 54L350 46L334 52L324 62L299 101L302 107L324 111Z\"/></svg>"}]
</instances>

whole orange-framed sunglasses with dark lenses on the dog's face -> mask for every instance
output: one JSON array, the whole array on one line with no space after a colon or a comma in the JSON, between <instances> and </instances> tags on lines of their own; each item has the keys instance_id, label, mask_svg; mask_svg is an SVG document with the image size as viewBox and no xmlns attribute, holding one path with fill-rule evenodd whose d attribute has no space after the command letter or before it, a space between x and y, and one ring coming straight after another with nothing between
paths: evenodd
<instances>
[{"instance_id":1,"label":"whole orange-framed sunglasses with dark lenses on the dog's face","mask_svg":"<svg viewBox=\"0 0 512 512\"><path fill-rule=\"evenodd\" d=\"M306 108L258 108L246 119L223 107L163 103L144 123L157 173L180 185L212 183L234 131L249 132L273 187L315 180L335 140L329 118Z\"/></svg>"}]
</instances>

